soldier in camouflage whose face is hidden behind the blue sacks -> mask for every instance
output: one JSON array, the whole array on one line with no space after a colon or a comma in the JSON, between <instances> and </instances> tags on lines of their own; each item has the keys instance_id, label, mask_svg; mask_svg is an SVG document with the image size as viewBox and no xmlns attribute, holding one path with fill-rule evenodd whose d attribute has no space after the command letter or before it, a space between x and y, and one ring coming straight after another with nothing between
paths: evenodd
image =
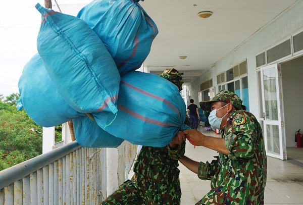
<instances>
[{"instance_id":1,"label":"soldier in camouflage whose face is hidden behind the blue sacks","mask_svg":"<svg viewBox=\"0 0 303 205\"><path fill-rule=\"evenodd\" d=\"M182 76L166 69L161 77L182 90ZM186 117L185 125L189 126ZM190 127L187 127L190 129ZM102 204L180 204L178 160L185 152L185 135L179 131L165 147L142 146L134 164L134 175L108 196Z\"/></svg>"}]
</instances>

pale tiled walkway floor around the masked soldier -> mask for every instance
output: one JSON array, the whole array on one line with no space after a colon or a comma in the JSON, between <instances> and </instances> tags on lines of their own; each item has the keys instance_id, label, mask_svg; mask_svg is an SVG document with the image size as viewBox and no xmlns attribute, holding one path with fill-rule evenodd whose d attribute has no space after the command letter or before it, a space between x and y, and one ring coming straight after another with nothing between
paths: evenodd
<instances>
[{"instance_id":1,"label":"pale tiled walkway floor around the masked soldier","mask_svg":"<svg viewBox=\"0 0 303 205\"><path fill-rule=\"evenodd\" d=\"M203 128L203 127L201 127ZM209 136L217 136L214 131L201 131ZM294 147L295 148L295 147ZM299 151L300 148L298 148ZM302 148L303 150L303 148ZM185 156L195 161L212 161L217 152L186 143ZM303 168L287 161L268 157L265 204L303 204ZM210 190L210 181L200 180L196 174L179 163L181 181L181 204L195 204Z\"/></svg>"}]
</instances>

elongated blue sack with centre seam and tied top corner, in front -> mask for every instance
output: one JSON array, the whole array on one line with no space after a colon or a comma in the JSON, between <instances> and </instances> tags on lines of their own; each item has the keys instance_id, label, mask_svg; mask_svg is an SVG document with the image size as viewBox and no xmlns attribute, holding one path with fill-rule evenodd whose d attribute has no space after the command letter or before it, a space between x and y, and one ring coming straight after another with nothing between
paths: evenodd
<instances>
[{"instance_id":1,"label":"elongated blue sack with centre seam and tied top corner, in front","mask_svg":"<svg viewBox=\"0 0 303 205\"><path fill-rule=\"evenodd\" d=\"M38 53L59 94L78 112L116 113L120 75L100 38L79 18L36 8Z\"/></svg>"}]
</instances>

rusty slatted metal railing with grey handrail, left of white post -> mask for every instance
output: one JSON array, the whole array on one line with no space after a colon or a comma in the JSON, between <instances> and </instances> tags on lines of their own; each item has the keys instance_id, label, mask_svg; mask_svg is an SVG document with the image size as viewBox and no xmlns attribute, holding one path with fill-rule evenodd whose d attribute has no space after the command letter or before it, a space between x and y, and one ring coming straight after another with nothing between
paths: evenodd
<instances>
[{"instance_id":1,"label":"rusty slatted metal railing with grey handrail, left of white post","mask_svg":"<svg viewBox=\"0 0 303 205\"><path fill-rule=\"evenodd\" d=\"M0 204L98 204L106 197L106 148L76 141L0 172Z\"/></svg>"}]
</instances>

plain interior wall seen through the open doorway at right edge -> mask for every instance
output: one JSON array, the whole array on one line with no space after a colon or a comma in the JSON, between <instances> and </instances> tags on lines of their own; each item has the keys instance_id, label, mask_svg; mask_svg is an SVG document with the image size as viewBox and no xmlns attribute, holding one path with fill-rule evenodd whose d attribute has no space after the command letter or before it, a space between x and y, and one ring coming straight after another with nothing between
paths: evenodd
<instances>
[{"instance_id":1,"label":"plain interior wall seen through the open doorway at right edge","mask_svg":"<svg viewBox=\"0 0 303 205\"><path fill-rule=\"evenodd\" d=\"M294 146L294 134L303 131L303 57L282 64L286 146Z\"/></svg>"}]
</instances>

